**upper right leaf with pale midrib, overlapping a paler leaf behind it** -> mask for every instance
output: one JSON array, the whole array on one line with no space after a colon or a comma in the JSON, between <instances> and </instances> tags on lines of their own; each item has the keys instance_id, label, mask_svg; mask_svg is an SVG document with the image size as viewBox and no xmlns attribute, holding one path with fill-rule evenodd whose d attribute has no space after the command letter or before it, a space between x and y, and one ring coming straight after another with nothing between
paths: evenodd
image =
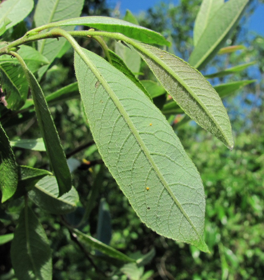
<instances>
[{"instance_id":1,"label":"upper right leaf with pale midrib, overlapping a paler leaf behind it","mask_svg":"<svg viewBox=\"0 0 264 280\"><path fill-rule=\"evenodd\" d=\"M189 64L194 68L202 68L225 43L229 33L238 23L248 0L229 0L210 18L197 42Z\"/></svg>"}]
</instances>

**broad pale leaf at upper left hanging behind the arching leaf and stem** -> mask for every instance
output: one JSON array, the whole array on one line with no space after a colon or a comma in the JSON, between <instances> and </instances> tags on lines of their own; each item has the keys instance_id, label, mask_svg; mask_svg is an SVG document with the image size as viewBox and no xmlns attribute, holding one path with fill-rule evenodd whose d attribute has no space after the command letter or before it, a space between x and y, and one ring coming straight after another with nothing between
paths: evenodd
<instances>
[{"instance_id":1,"label":"broad pale leaf at upper left hanging behind the arching leaf and stem","mask_svg":"<svg viewBox=\"0 0 264 280\"><path fill-rule=\"evenodd\" d=\"M42 26L55 21L63 19L71 19L80 16L83 8L84 0L38 0L36 11L34 14L34 21L36 26ZM72 27L66 27L65 30L72 30ZM43 54L49 63L59 55L62 56L62 50L67 51L65 48L66 39L44 39L38 41L38 50ZM41 77L49 68L49 65L42 67L39 70Z\"/></svg>"}]
</instances>

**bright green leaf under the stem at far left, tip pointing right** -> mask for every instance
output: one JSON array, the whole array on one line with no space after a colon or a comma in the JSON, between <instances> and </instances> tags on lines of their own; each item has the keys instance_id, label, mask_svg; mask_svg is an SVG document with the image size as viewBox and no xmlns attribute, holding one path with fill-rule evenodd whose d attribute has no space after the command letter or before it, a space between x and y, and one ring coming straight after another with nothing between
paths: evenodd
<instances>
[{"instance_id":1,"label":"bright green leaf under the stem at far left, tip pointing right","mask_svg":"<svg viewBox=\"0 0 264 280\"><path fill-rule=\"evenodd\" d=\"M33 73L36 72L39 69L39 67L49 63L46 57L44 57L36 49L30 46L20 46L18 53L25 61L25 64L27 65L29 70ZM0 64L5 62L19 64L19 61L17 61L17 59L12 58L10 55L7 54L0 56Z\"/></svg>"}]
</instances>

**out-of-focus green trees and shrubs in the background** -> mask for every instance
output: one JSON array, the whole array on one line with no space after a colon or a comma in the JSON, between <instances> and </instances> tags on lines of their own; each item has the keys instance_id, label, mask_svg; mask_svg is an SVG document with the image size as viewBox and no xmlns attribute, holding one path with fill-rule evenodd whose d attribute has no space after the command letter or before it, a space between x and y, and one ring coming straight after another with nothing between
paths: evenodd
<instances>
[{"instance_id":1,"label":"out-of-focus green trees and shrubs in the background","mask_svg":"<svg viewBox=\"0 0 264 280\"><path fill-rule=\"evenodd\" d=\"M259 1L261 2L261 1ZM181 115L172 121L173 128L181 139L186 152L194 161L201 174L206 194L205 242L211 254L200 252L193 246L175 242L158 236L140 223L127 199L117 187L108 171L100 165L89 166L85 161L73 173L73 185L77 187L82 205L87 197L93 196L82 224L83 232L100 236L100 220L112 236L103 236L110 245L130 257L147 254L153 248L155 253L148 256L143 267L106 258L93 248L78 244L74 235L63 226L64 223L76 225L83 214L83 208L60 217L46 214L35 208L48 236L53 258L53 279L102 279L111 275L112 279L262 279L264 271L264 120L263 120L263 70L264 39L256 34L249 34L244 28L258 1L251 1L235 35L229 45L243 44L247 48L241 51L217 56L203 74L220 71L228 66L256 61L248 70L210 80L213 85L220 82L233 82L242 79L258 79L246 88L235 91L233 96L224 100L231 118L235 135L235 148L232 153L224 145L193 122L182 124ZM182 0L177 7L161 3L141 15L140 25L171 38L176 55L188 59L192 50L191 30L198 12L199 0ZM110 15L111 10L105 1L86 1L83 9L88 15ZM172 20L173 19L173 20ZM177 19L177 20L175 20ZM28 18L29 23L31 18ZM20 30L20 27L14 29ZM17 31L18 32L18 31ZM25 33L25 32L24 32ZM5 35L8 36L8 35ZM15 34L9 34L14 37ZM17 35L19 37L19 35ZM6 38L8 40L8 38ZM83 41L91 48L101 50L94 42ZM70 52L57 59L42 78L41 86L45 94L54 92L69 82L74 82L73 58ZM153 78L143 65L141 77ZM84 114L78 99L66 101L51 107L56 128L59 132L66 155L80 145L86 145L77 159L87 159L90 163L100 163L92 138L87 138L88 128L84 124ZM24 138L38 138L36 119L29 117L27 126L17 125L8 130L10 138L18 135ZM43 167L45 154L25 149L15 149L15 157L20 165ZM47 162L47 159L46 159ZM91 168L92 167L92 168ZM96 176L100 174L100 176ZM15 221L23 202L14 201L5 209L1 205L0 232L8 234L14 231ZM103 215L103 216L102 216ZM10 262L10 243L0 247L0 279L15 279ZM87 252L90 252L87 254ZM90 254L94 253L91 262ZM96 271L97 269L97 271ZM133 271L132 275L131 272ZM101 275L101 276L100 276Z\"/></svg>"}]
</instances>

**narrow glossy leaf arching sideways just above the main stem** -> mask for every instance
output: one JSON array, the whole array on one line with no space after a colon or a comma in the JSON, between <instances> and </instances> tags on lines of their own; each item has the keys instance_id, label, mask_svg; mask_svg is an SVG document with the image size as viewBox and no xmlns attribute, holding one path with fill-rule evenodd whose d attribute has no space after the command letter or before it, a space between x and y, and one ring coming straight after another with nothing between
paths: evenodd
<instances>
[{"instance_id":1,"label":"narrow glossy leaf arching sideways just above the main stem","mask_svg":"<svg viewBox=\"0 0 264 280\"><path fill-rule=\"evenodd\" d=\"M68 25L84 25L99 30L118 32L129 38L136 39L147 44L170 45L170 43L160 33L121 19L114 19L107 16L83 16L75 19L66 19L49 24L47 27ZM31 32L39 32L47 27L40 26L32 29ZM71 29L73 30L73 28Z\"/></svg>"}]
</instances>

